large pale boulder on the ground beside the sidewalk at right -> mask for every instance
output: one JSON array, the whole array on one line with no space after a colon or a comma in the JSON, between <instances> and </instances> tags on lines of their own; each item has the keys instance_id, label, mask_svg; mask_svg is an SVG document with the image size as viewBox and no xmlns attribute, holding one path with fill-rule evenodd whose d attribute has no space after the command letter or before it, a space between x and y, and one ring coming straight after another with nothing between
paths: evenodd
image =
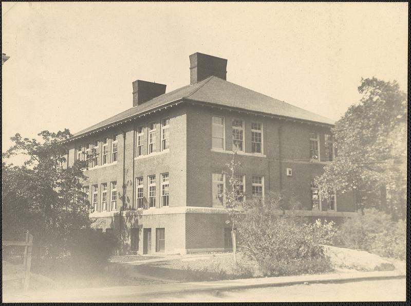
<instances>
[{"instance_id":1,"label":"large pale boulder on the ground beside the sidewalk at right","mask_svg":"<svg viewBox=\"0 0 411 306\"><path fill-rule=\"evenodd\" d=\"M335 268L356 269L358 271L392 271L395 266L390 261L366 251L330 245L321 245Z\"/></svg>"}]
</instances>

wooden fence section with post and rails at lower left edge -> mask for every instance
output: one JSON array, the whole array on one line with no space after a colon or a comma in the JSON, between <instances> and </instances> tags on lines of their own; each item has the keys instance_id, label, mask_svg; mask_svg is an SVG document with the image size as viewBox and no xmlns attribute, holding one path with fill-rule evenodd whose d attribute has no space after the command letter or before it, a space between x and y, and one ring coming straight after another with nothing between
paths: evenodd
<instances>
[{"instance_id":1,"label":"wooden fence section with post and rails at lower left edge","mask_svg":"<svg viewBox=\"0 0 411 306\"><path fill-rule=\"evenodd\" d=\"M30 268L32 258L31 249L33 246L33 235L26 231L26 241L3 241L2 245L3 247L24 246L23 264L3 263L3 281L21 279L24 290L27 290L30 281Z\"/></svg>"}]
</instances>

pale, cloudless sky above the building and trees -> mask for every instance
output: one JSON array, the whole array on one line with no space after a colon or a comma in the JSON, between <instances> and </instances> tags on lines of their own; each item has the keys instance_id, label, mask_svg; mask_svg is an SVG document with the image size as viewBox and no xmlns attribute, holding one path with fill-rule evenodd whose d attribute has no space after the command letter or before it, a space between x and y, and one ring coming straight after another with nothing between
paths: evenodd
<instances>
[{"instance_id":1,"label":"pale, cloudless sky above the building and trees","mask_svg":"<svg viewBox=\"0 0 411 306\"><path fill-rule=\"evenodd\" d=\"M407 89L407 3L2 2L2 150L15 133L78 132L133 106L132 82L227 80L337 120L361 78ZM252 103L252 101L250 101Z\"/></svg>"}]
</instances>

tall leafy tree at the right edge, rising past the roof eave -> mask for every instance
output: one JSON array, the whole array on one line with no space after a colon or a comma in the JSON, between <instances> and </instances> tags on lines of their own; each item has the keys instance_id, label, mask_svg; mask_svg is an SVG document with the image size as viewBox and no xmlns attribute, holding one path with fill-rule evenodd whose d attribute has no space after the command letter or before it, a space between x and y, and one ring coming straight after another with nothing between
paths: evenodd
<instances>
[{"instance_id":1,"label":"tall leafy tree at the right edge, rising past the roof eave","mask_svg":"<svg viewBox=\"0 0 411 306\"><path fill-rule=\"evenodd\" d=\"M407 95L377 78L362 79L358 91L360 103L332 129L338 154L316 184L323 196L354 190L360 205L405 217Z\"/></svg>"}]
</instances>

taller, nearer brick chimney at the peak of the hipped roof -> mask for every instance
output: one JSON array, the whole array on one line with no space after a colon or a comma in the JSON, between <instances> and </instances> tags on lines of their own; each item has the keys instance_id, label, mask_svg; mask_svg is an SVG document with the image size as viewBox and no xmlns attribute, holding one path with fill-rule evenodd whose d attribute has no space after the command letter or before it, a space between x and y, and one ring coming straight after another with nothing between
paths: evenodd
<instances>
[{"instance_id":1,"label":"taller, nearer brick chimney at the peak of the hipped roof","mask_svg":"<svg viewBox=\"0 0 411 306\"><path fill-rule=\"evenodd\" d=\"M194 53L190 56L190 85L216 76L227 80L227 60L203 53Z\"/></svg>"}]
</instances>

